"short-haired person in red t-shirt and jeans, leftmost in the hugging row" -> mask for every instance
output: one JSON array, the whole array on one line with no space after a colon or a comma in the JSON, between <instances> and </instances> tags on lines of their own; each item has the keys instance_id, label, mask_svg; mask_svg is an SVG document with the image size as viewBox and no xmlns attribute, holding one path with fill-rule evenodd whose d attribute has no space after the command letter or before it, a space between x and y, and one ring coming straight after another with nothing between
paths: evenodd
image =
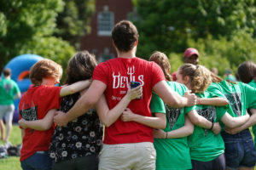
<instances>
[{"instance_id":1,"label":"short-haired person in red t-shirt and jeans, leftmost in the hugging row","mask_svg":"<svg viewBox=\"0 0 256 170\"><path fill-rule=\"evenodd\" d=\"M50 110L59 108L60 97L76 93L90 85L90 81L81 81L64 88L55 87L61 76L61 65L50 59L39 60L32 66L30 79L33 86L20 99L20 119L23 118L26 121L43 119L48 111L53 117L55 111ZM20 164L22 169L51 169L48 150L55 125L51 123L51 127L47 130L38 129L38 127L20 128L22 137Z\"/></svg>"}]
</instances>

